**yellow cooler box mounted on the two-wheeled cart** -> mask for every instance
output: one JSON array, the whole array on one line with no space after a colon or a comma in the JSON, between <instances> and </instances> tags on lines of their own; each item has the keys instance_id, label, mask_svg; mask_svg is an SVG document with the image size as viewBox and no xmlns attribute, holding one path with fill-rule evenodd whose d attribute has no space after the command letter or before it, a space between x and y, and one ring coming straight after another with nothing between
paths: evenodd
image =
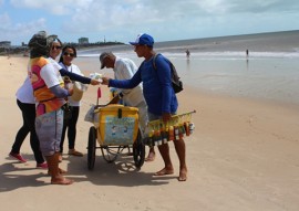
<instances>
[{"instance_id":1,"label":"yellow cooler box mounted on the two-wheeled cart","mask_svg":"<svg viewBox=\"0 0 299 211\"><path fill-rule=\"evenodd\" d=\"M118 104L99 109L100 145L132 145L138 134L138 108Z\"/></svg>"}]
</instances>

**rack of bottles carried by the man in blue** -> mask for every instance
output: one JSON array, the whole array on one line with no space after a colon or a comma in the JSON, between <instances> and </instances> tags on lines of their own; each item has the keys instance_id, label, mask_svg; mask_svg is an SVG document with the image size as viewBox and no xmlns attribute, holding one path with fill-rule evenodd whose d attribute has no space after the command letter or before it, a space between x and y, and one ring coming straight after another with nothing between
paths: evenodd
<instances>
[{"instance_id":1,"label":"rack of bottles carried by the man in blue","mask_svg":"<svg viewBox=\"0 0 299 211\"><path fill-rule=\"evenodd\" d=\"M159 146L171 140L181 140L185 136L190 136L195 129L192 115L196 110L173 115L167 124L162 119L152 120L147 124L147 131L144 144L148 146Z\"/></svg>"}]
</instances>

